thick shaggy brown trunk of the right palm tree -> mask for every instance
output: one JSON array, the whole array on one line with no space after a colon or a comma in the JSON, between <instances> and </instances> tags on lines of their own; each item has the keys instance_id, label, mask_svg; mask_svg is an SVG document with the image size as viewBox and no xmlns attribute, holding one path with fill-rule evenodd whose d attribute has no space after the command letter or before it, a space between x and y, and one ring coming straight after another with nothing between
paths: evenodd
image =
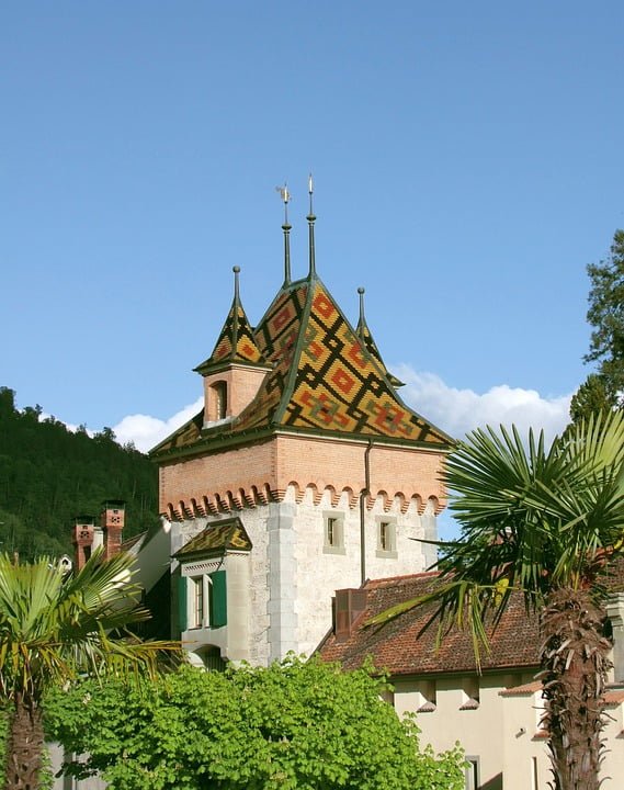
<instances>
[{"instance_id":1,"label":"thick shaggy brown trunk of the right palm tree","mask_svg":"<svg viewBox=\"0 0 624 790\"><path fill-rule=\"evenodd\" d=\"M555 790L598 790L602 763L602 695L610 643L604 613L588 590L555 589L542 612L541 648Z\"/></svg>"}]
</instances>

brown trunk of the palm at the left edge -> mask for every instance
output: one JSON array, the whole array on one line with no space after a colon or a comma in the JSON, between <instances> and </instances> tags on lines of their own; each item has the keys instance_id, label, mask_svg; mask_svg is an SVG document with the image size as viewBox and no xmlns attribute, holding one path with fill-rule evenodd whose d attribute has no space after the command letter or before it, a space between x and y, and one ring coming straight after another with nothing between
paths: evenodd
<instances>
[{"instance_id":1,"label":"brown trunk of the palm at the left edge","mask_svg":"<svg viewBox=\"0 0 624 790\"><path fill-rule=\"evenodd\" d=\"M41 708L18 699L7 743L4 790L37 790L43 746L44 730Z\"/></svg>"}]
</instances>

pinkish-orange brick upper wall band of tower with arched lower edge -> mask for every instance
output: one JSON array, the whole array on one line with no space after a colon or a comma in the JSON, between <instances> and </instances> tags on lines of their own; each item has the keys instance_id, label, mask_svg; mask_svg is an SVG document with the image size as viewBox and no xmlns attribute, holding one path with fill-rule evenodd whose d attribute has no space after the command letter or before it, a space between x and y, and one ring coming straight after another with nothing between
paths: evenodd
<instances>
[{"instance_id":1,"label":"pinkish-orange brick upper wall band of tower with arched lower edge","mask_svg":"<svg viewBox=\"0 0 624 790\"><path fill-rule=\"evenodd\" d=\"M330 488L334 501L347 492L354 504L365 487L366 458L373 500L382 496L389 507L399 497L402 510L411 499L421 512L428 501L436 512L442 509L443 452L371 442L276 435L262 443L162 464L160 511L184 516L237 510L281 500L290 485L298 498L314 486L317 501Z\"/></svg>"}]
</instances>

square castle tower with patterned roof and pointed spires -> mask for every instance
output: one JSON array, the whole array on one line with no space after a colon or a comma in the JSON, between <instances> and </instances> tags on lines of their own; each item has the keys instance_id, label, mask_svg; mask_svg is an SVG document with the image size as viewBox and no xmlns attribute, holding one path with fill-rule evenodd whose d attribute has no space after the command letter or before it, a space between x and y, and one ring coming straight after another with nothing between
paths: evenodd
<instances>
[{"instance_id":1,"label":"square castle tower with patterned roof and pointed spires","mask_svg":"<svg viewBox=\"0 0 624 790\"><path fill-rule=\"evenodd\" d=\"M452 440L398 396L363 303L354 328L318 276L311 192L310 179L308 274L291 278L286 217L282 286L252 329L236 272L224 330L196 369L204 409L151 451L184 625L173 636L196 655L254 664L309 655L331 628L336 589L435 558L419 539L436 538ZM225 411L212 399L219 381ZM240 545L223 538L224 520L245 535ZM217 595L227 613L212 621L207 599Z\"/></svg>"}]
</instances>

